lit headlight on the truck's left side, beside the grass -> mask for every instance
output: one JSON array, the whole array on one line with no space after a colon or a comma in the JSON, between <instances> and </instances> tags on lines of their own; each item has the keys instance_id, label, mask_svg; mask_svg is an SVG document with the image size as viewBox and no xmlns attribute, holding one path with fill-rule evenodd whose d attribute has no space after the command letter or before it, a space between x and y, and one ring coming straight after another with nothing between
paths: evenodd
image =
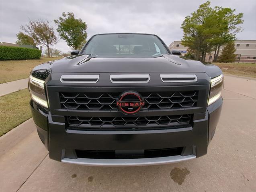
<instances>
[{"instance_id":1,"label":"lit headlight on the truck's left side, beside the grass","mask_svg":"<svg viewBox=\"0 0 256 192\"><path fill-rule=\"evenodd\" d=\"M47 99L45 96L45 81L29 76L29 91L33 101L48 108Z\"/></svg>"}]
</instances>

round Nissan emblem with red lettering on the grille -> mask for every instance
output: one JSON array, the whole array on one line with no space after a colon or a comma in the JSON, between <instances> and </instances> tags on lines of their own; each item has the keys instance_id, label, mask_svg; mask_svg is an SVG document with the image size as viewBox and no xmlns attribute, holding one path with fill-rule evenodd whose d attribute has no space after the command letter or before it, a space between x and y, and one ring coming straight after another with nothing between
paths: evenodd
<instances>
[{"instance_id":1,"label":"round Nissan emblem with red lettering on the grille","mask_svg":"<svg viewBox=\"0 0 256 192\"><path fill-rule=\"evenodd\" d=\"M117 100L117 107L126 115L138 113L144 105L141 95L135 91L126 91Z\"/></svg>"}]
</instances>

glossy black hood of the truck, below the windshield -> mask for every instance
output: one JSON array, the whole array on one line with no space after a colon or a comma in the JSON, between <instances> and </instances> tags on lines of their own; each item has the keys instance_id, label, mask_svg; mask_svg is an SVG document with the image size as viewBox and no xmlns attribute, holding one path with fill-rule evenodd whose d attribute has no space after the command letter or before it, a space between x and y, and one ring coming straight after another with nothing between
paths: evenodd
<instances>
[{"instance_id":1,"label":"glossy black hood of the truck, below the windshield","mask_svg":"<svg viewBox=\"0 0 256 192\"><path fill-rule=\"evenodd\" d=\"M88 57L88 55L76 55L51 63L51 73L127 72L205 72L211 78L222 73L219 67L215 65L189 61L174 55L154 58L94 58Z\"/></svg>"}]
</instances>

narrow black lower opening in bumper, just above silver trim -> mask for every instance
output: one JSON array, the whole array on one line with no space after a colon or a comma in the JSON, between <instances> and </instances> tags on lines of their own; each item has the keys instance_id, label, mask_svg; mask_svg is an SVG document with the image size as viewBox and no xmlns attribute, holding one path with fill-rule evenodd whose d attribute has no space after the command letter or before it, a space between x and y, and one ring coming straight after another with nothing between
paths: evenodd
<instances>
[{"instance_id":1,"label":"narrow black lower opening in bumper, just above silver trim","mask_svg":"<svg viewBox=\"0 0 256 192\"><path fill-rule=\"evenodd\" d=\"M182 149L183 147L152 150L124 150L121 152L115 150L76 150L76 155L78 158L90 159L156 158L180 155Z\"/></svg>"}]
</instances>

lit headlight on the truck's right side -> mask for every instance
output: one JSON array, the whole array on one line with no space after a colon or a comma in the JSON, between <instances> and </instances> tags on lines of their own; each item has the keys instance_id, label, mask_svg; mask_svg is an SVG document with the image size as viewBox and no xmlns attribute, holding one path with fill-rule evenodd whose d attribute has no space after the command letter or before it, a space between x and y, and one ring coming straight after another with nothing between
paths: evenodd
<instances>
[{"instance_id":1,"label":"lit headlight on the truck's right side","mask_svg":"<svg viewBox=\"0 0 256 192\"><path fill-rule=\"evenodd\" d=\"M221 74L218 77L211 79L211 89L209 94L208 106L217 101L221 97L221 90L223 89L224 76Z\"/></svg>"}]
</instances>

